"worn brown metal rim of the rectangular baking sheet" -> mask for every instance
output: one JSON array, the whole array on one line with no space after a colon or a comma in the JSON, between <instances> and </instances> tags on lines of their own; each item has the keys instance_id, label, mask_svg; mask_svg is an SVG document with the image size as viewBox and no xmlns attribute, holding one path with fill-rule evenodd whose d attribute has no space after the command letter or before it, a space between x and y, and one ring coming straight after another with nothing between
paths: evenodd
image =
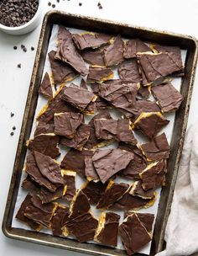
<instances>
[{"instance_id":1,"label":"worn brown metal rim of the rectangular baking sheet","mask_svg":"<svg viewBox=\"0 0 198 256\"><path fill-rule=\"evenodd\" d=\"M18 143L18 151L13 168L13 178L8 194L8 203L3 219L3 232L8 237L20 240L31 241L33 243L41 243L59 248L68 248L85 253L93 253L96 255L123 255L123 251L101 247L90 243L77 243L75 240L65 238L52 237L50 235L25 231L21 228L12 227L14 205L17 200L19 183L21 178L21 170L26 154L25 141L29 139L31 127L34 120L34 111L38 100L38 88L44 70L45 56L50 41L51 29L53 24L65 24L67 27L76 29L85 29L96 32L104 32L109 34L121 34L125 38L139 37L142 40L157 42L165 45L178 45L182 49L187 50L185 58L185 77L181 83L181 94L184 101L180 110L175 115L175 124L173 128L173 136L170 143L171 155L168 164L167 186L162 189L159 201L159 211L154 227L154 238L151 248L151 254L162 249L164 243L164 228L169 215L173 189L175 187L175 179L180 161L180 153L185 137L185 129L187 124L190 96L192 93L193 80L195 76L195 65L197 59L197 43L196 40L185 35L175 35L143 28L135 28L127 24L115 24L100 19L91 19L72 15L69 13L61 13L58 11L47 13L44 17L44 23L40 34L39 47L34 64L34 71L29 87L29 95L26 109L23 117L23 125ZM143 255L136 253L135 255Z\"/></svg>"}]
</instances>

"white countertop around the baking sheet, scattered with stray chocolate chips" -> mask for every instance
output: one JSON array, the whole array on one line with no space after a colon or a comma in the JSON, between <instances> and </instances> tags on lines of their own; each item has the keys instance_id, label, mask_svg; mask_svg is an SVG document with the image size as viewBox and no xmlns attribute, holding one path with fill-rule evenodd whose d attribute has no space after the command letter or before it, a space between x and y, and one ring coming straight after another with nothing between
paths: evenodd
<instances>
[{"instance_id":1,"label":"white countertop around the baking sheet, scattered with stray chocolate chips","mask_svg":"<svg viewBox=\"0 0 198 256\"><path fill-rule=\"evenodd\" d=\"M112 19L128 24L146 26L154 29L193 35L198 38L198 0L101 0L102 9L97 7L96 0L42 0L43 13L52 9L48 3L55 3L56 8L69 13L81 13L103 19ZM82 6L79 6L82 3ZM13 172L13 162L18 145L23 110L29 90L29 81L34 65L36 46L39 40L40 27L29 35L12 36L0 32L0 221L3 221L8 188ZM27 52L20 49L23 44ZM18 50L13 50L13 45ZM35 50L31 51L30 47ZM21 63L21 68L18 68ZM190 106L189 123L198 120L198 70L196 72L194 91ZM11 118L10 113L14 116ZM14 136L10 136L13 125L16 126ZM56 248L47 248L32 243L23 243L8 239L0 232L0 254L6 256L62 256L83 255ZM84 254L85 255L85 254Z\"/></svg>"}]
</instances>

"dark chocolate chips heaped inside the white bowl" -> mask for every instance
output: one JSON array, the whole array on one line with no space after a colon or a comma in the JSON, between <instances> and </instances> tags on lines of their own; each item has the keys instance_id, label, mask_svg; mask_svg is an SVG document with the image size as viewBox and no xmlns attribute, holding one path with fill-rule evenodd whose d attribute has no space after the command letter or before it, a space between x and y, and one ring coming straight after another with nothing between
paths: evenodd
<instances>
[{"instance_id":1,"label":"dark chocolate chips heaped inside the white bowl","mask_svg":"<svg viewBox=\"0 0 198 256\"><path fill-rule=\"evenodd\" d=\"M29 22L37 12L39 0L1 0L0 24L18 27Z\"/></svg>"}]
</instances>

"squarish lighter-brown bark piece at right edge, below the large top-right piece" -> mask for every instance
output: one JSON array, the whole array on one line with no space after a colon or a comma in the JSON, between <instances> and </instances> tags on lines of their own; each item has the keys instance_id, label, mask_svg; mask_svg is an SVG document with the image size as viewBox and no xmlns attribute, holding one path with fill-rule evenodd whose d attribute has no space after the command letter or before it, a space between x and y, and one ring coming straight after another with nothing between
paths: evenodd
<instances>
[{"instance_id":1,"label":"squarish lighter-brown bark piece at right edge, below the large top-right piece","mask_svg":"<svg viewBox=\"0 0 198 256\"><path fill-rule=\"evenodd\" d=\"M164 113L179 109L183 100L182 95L172 83L154 86L152 93L154 93L154 97L158 100L158 104Z\"/></svg>"}]
</instances>

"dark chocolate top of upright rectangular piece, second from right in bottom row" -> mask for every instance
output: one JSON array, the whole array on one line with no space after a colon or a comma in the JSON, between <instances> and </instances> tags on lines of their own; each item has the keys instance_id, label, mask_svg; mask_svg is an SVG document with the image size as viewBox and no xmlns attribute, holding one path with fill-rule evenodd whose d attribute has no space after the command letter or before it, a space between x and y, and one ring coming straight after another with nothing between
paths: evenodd
<instances>
[{"instance_id":1,"label":"dark chocolate top of upright rectangular piece, second from right in bottom row","mask_svg":"<svg viewBox=\"0 0 198 256\"><path fill-rule=\"evenodd\" d=\"M102 231L96 237L97 240L107 246L117 246L117 233L120 216L114 212L107 212Z\"/></svg>"}]
</instances>

